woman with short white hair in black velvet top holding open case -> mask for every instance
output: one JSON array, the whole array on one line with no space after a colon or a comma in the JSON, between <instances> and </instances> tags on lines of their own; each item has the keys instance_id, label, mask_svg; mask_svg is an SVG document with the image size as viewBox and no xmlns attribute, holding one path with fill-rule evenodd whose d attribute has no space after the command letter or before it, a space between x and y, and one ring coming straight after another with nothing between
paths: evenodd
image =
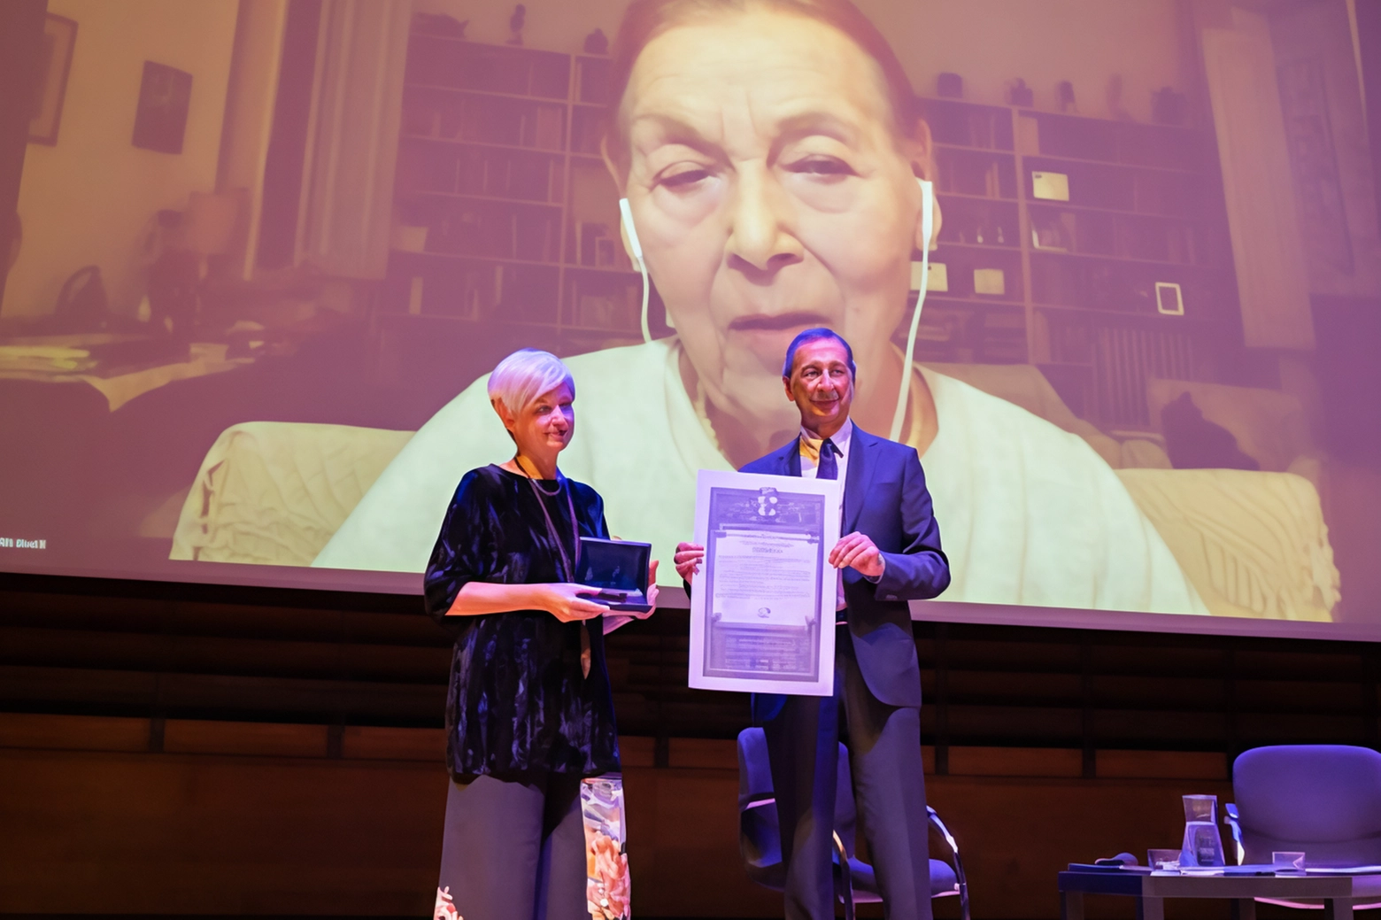
<instances>
[{"instance_id":1,"label":"woman with short white hair in black velvet top holding open case","mask_svg":"<svg viewBox=\"0 0 1381 920\"><path fill-rule=\"evenodd\" d=\"M574 583L580 537L609 537L599 493L557 468L574 398L555 355L499 362L489 399L516 450L464 475L427 565L427 611L456 631L438 916L588 916L580 780L619 769L603 634L631 617Z\"/></svg>"}]
</instances>

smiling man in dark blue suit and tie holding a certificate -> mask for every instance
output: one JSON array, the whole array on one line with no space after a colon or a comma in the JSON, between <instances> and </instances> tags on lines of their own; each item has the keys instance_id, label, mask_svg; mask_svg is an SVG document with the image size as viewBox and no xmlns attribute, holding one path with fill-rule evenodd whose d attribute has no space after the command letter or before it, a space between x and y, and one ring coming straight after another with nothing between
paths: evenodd
<instances>
[{"instance_id":1,"label":"smiling man in dark blue suit and tie holding a certificate","mask_svg":"<svg viewBox=\"0 0 1381 920\"><path fill-rule=\"evenodd\" d=\"M887 916L931 917L921 670L907 601L949 586L949 561L914 448L849 420L853 351L829 329L808 329L787 349L782 381L801 410L801 434L743 472L844 479L845 536L838 569L834 695L757 693L782 826L787 920L834 916L831 870L838 740L849 749L855 797ZM689 584L704 547L677 547Z\"/></svg>"}]
</instances>

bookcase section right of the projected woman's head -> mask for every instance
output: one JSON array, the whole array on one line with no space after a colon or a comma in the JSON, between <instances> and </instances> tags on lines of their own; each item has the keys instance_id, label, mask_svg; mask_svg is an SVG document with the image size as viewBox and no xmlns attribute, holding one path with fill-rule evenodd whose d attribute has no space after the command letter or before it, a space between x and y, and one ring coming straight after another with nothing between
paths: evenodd
<instances>
[{"instance_id":1,"label":"bookcase section right of the projected woman's head","mask_svg":"<svg viewBox=\"0 0 1381 920\"><path fill-rule=\"evenodd\" d=\"M1211 135L958 99L924 113L945 268L923 361L1033 363L1120 428L1149 423L1148 377L1224 376L1240 315Z\"/></svg>"}]
</instances>

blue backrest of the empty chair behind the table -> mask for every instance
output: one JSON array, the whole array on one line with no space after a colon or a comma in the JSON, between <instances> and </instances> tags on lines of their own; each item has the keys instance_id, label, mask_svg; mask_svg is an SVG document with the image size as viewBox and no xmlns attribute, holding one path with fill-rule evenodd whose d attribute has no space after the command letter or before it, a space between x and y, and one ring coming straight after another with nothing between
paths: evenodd
<instances>
[{"instance_id":1,"label":"blue backrest of the empty chair behind the table","mask_svg":"<svg viewBox=\"0 0 1381 920\"><path fill-rule=\"evenodd\" d=\"M1304 851L1309 865L1381 865L1381 754L1370 747L1255 747L1233 763L1232 790L1244 862Z\"/></svg>"}]
</instances>

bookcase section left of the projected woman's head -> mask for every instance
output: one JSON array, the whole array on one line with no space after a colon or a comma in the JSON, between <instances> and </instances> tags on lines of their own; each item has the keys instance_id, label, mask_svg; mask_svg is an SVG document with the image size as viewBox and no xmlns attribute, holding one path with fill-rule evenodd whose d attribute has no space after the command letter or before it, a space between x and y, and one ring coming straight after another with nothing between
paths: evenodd
<instances>
[{"instance_id":1,"label":"bookcase section left of the projected woman's head","mask_svg":"<svg viewBox=\"0 0 1381 920\"><path fill-rule=\"evenodd\" d=\"M641 341L642 282L599 157L608 70L412 33L381 320L482 325L557 354Z\"/></svg>"}]
</instances>

